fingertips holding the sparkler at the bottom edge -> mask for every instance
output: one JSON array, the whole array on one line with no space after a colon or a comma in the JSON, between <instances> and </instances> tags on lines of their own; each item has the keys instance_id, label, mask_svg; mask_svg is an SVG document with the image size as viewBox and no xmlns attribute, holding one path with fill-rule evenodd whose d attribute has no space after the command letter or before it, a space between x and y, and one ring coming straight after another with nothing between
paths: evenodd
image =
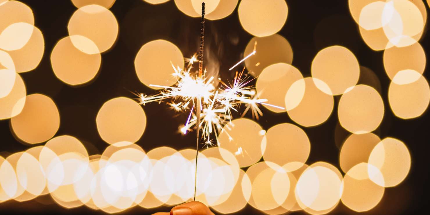
<instances>
[{"instance_id":1,"label":"fingertips holding the sparkler at the bottom edge","mask_svg":"<svg viewBox=\"0 0 430 215\"><path fill-rule=\"evenodd\" d=\"M187 202L172 208L169 212L158 212L154 215L214 215L209 208L201 202Z\"/></svg>"}]
</instances>

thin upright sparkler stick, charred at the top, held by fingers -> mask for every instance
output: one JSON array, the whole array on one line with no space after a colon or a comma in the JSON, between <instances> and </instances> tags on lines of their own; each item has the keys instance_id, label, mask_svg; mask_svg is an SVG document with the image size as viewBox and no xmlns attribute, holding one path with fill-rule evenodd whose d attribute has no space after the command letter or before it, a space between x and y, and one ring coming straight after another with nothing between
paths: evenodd
<instances>
[{"instance_id":1,"label":"thin upright sparkler stick, charred at the top, held by fingers","mask_svg":"<svg viewBox=\"0 0 430 215\"><path fill-rule=\"evenodd\" d=\"M203 46L205 44L205 3L202 3L202 19L200 27L200 53L199 53L199 78L202 78L203 74ZM201 112L201 97L200 95L196 98L196 117L197 117L197 140L196 140L196 170L194 172L194 201L196 200L197 190L197 157L199 156L199 133L200 133L200 112Z\"/></svg>"}]
</instances>

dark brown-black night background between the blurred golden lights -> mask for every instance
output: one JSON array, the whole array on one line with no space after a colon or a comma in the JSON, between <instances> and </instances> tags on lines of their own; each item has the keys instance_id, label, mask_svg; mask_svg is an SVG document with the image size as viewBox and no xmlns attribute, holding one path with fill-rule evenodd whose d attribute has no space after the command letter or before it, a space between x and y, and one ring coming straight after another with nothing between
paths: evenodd
<instances>
[{"instance_id":1,"label":"dark brown-black night background between the blurred golden lights","mask_svg":"<svg viewBox=\"0 0 430 215\"><path fill-rule=\"evenodd\" d=\"M98 76L90 83L71 87L58 80L52 72L49 56L58 40L68 36L68 20L77 9L70 0L22 0L34 12L35 26L40 28L45 40L45 53L39 66L31 72L21 74L27 86L27 94L42 93L53 98L61 118L60 129L56 135L72 135L80 139L89 154L100 154L107 143L98 135L95 117L101 105L118 96L134 98L129 90L154 93L144 86L135 74L134 59L140 47L151 40L165 39L176 44L185 57L190 57L198 48L199 18L191 18L179 11L173 0L159 5L151 5L142 0L117 0L111 11L119 24L118 39L114 46L102 54L102 64ZM286 24L278 34L285 37L292 46L294 58L292 65L304 77L310 76L310 64L316 53L327 46L341 45L350 49L359 64L370 68L377 74L381 86L381 96L385 104L385 116L380 128L375 132L380 138L394 137L404 141L412 156L412 166L407 178L398 186L385 189L384 197L374 209L363 214L413 214L427 205L429 173L429 111L412 120L396 118L388 104L387 90L390 79L384 71L383 52L372 51L359 35L356 23L350 15L347 0L287 0L289 7ZM428 12L427 2L426 9ZM218 60L220 77L233 78L228 69L243 57L243 50L252 35L240 25L237 8L227 18L217 21L206 20L205 51L213 53L211 60ZM238 43L237 43L238 41ZM421 38L421 45L428 55L429 38L427 28ZM209 49L209 50L208 50ZM207 56L207 54L206 54ZM429 80L428 72L424 76ZM316 161L332 163L340 169L338 162L339 142L347 133L338 127L337 104L329 120L320 126L306 128L311 142L308 164ZM278 123L289 122L286 113L274 114L261 108L264 117L258 123L269 129ZM142 138L136 143L147 152L160 146L170 146L176 150L193 148L194 135L182 136L177 133L183 116L173 117L173 111L158 104L144 106L147 126ZM186 117L186 116L185 116ZM248 114L246 117L251 118ZM160 130L163 127L163 130ZM30 146L14 138L9 128L9 120L0 121L0 152L2 155L25 151ZM63 209L49 202L49 195L38 197L24 203L9 200L0 203L0 212L31 213L92 213L101 214L85 206L76 209ZM169 211L169 207L143 209L136 206L122 213L151 214ZM342 203L331 214L355 214ZM262 214L251 206L238 214ZM304 214L295 212L293 214Z\"/></svg>"}]
</instances>

